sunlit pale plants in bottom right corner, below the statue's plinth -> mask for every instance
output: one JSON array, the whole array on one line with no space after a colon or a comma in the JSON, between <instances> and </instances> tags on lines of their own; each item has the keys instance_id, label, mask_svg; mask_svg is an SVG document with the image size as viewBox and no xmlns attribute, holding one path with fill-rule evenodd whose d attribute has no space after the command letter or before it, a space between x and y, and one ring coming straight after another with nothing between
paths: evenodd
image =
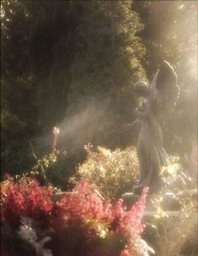
<instances>
[{"instance_id":1,"label":"sunlit pale plants in bottom right corner, below the statue's plinth","mask_svg":"<svg viewBox=\"0 0 198 256\"><path fill-rule=\"evenodd\" d=\"M198 253L195 195L193 199L190 192L179 193L180 195L176 194L181 205L179 211L163 210L162 199L165 197L163 192L158 195L158 199L156 198L158 202L153 199L156 204L156 214L153 212L153 216L147 216L144 220L147 222L147 227L142 236L151 244L157 255L195 256Z\"/></svg>"}]
</instances>

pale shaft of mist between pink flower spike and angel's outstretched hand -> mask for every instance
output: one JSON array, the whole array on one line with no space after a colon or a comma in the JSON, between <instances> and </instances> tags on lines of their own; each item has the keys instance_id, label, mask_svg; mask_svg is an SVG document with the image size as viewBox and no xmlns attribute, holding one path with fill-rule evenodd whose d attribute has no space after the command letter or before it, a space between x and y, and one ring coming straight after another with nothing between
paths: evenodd
<instances>
[{"instance_id":1,"label":"pale shaft of mist between pink flower spike and angel's outstretched hand","mask_svg":"<svg viewBox=\"0 0 198 256\"><path fill-rule=\"evenodd\" d=\"M108 119L109 102L91 101L72 116L60 123L60 141L68 152L73 153L84 144L97 143L105 135L112 133L113 120Z\"/></svg>"}]
</instances>

